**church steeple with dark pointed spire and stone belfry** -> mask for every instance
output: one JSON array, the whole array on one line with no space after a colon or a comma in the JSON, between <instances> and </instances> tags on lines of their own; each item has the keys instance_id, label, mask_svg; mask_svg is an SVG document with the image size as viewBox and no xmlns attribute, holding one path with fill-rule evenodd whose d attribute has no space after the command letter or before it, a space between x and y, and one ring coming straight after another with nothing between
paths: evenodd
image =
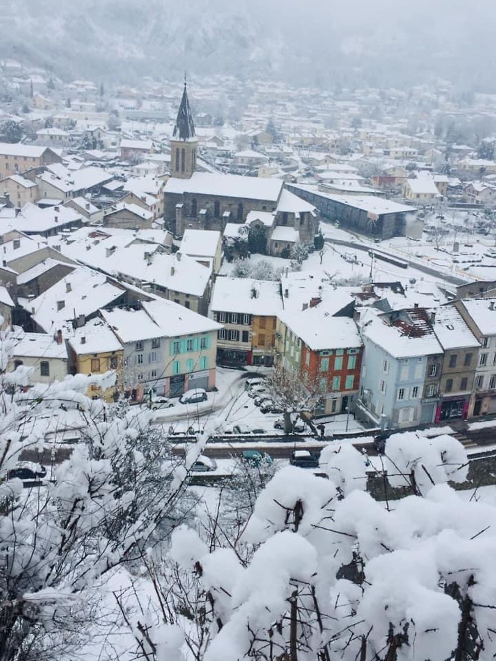
<instances>
[{"instance_id":1,"label":"church steeple with dark pointed spire and stone belfry","mask_svg":"<svg viewBox=\"0 0 496 661\"><path fill-rule=\"evenodd\" d=\"M196 148L198 145L186 87L185 75L183 97L179 104L171 139L171 175L183 179L190 178L194 172L196 167Z\"/></svg>"}]
</instances>

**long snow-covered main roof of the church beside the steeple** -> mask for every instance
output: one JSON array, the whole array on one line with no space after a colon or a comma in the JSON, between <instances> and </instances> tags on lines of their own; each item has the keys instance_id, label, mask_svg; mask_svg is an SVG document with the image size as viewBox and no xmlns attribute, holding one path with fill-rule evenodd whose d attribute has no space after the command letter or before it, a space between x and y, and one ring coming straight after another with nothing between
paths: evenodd
<instances>
[{"instance_id":1,"label":"long snow-covered main roof of the church beside the steeple","mask_svg":"<svg viewBox=\"0 0 496 661\"><path fill-rule=\"evenodd\" d=\"M165 193L277 202L282 184L278 179L265 177L195 172L189 179L171 177L165 184Z\"/></svg>"}]
</instances>

